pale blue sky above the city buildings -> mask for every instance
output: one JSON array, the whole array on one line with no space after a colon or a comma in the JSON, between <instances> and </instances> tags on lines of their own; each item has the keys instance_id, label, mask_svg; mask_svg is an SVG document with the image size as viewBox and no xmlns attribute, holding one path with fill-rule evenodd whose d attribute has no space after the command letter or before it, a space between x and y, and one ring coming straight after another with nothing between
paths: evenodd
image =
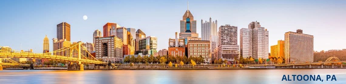
<instances>
[{"instance_id":1,"label":"pale blue sky above the city buildings","mask_svg":"<svg viewBox=\"0 0 346 84\"><path fill-rule=\"evenodd\" d=\"M314 36L314 50L346 49L345 0L189 0L189 10L197 20L218 20L248 28L260 22L269 31L269 46L284 40L284 33L302 29ZM187 10L186 0L5 0L0 2L0 46L15 50L33 49L42 53L45 35L56 38L56 24L71 24L71 41L92 42L94 30L107 22L143 30L156 36L158 50L167 49L168 39L180 30ZM83 20L83 15L88 19ZM239 39L239 34L238 34ZM239 44L238 40L238 44ZM269 49L270 50L270 49Z\"/></svg>"}]
</instances>

